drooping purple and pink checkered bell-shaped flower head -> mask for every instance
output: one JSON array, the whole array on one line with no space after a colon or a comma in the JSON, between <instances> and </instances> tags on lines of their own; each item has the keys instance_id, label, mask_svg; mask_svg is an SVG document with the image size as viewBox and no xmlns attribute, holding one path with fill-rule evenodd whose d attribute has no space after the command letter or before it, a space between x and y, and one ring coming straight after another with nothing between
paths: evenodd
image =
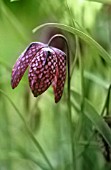
<instances>
[{"instance_id":1,"label":"drooping purple and pink checkered bell-shaped flower head","mask_svg":"<svg viewBox=\"0 0 111 170\"><path fill-rule=\"evenodd\" d=\"M61 99L66 78L66 54L47 44L31 43L13 66L13 89L18 86L28 66L29 85L34 97L41 95L52 84L57 103Z\"/></svg>"}]
</instances>

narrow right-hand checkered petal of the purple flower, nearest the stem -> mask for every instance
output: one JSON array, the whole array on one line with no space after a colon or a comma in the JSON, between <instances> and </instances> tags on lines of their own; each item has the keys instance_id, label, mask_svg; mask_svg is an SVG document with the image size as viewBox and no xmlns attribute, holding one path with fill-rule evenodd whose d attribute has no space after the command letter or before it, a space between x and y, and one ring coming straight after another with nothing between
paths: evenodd
<instances>
[{"instance_id":1,"label":"narrow right-hand checkered petal of the purple flower, nearest the stem","mask_svg":"<svg viewBox=\"0 0 111 170\"><path fill-rule=\"evenodd\" d=\"M66 79L66 54L56 48L53 48L53 50L56 52L57 56L57 67L52 86L55 95L55 103L57 103L61 99Z\"/></svg>"}]
</instances>

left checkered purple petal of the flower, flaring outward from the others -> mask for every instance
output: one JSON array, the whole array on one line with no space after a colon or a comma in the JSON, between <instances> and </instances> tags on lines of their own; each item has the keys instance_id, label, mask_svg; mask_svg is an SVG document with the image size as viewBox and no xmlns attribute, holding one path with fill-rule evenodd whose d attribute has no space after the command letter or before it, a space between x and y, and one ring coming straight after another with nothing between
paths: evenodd
<instances>
[{"instance_id":1,"label":"left checkered purple petal of the flower, flaring outward from the others","mask_svg":"<svg viewBox=\"0 0 111 170\"><path fill-rule=\"evenodd\" d=\"M29 66L30 62L37 54L37 51L45 46L43 43L33 42L30 46L20 55L18 60L16 61L15 65L12 69L12 79L11 85L14 89L18 83L20 82L24 72L26 71L27 67Z\"/></svg>"}]
</instances>

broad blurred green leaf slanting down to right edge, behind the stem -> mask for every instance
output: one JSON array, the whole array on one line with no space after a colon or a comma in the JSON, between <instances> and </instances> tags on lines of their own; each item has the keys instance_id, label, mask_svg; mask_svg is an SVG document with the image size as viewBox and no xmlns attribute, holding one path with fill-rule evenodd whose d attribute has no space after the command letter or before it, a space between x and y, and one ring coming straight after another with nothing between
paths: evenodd
<instances>
[{"instance_id":1,"label":"broad blurred green leaf slanting down to right edge, behind the stem","mask_svg":"<svg viewBox=\"0 0 111 170\"><path fill-rule=\"evenodd\" d=\"M82 96L74 90L71 90L71 93L80 111ZM108 127L108 125L103 120L102 116L100 116L97 113L95 108L91 105L91 103L87 99L84 99L83 113L94 124L96 129L100 132L100 134L103 136L103 138L111 147L111 129Z\"/></svg>"}]
</instances>

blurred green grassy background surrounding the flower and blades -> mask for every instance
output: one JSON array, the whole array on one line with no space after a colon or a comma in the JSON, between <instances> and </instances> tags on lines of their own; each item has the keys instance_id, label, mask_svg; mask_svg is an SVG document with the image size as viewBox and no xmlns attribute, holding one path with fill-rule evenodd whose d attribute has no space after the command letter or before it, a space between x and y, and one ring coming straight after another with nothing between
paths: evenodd
<instances>
[{"instance_id":1,"label":"blurred green grassy background surrounding the flower and blades","mask_svg":"<svg viewBox=\"0 0 111 170\"><path fill-rule=\"evenodd\" d=\"M76 22L75 22L76 21ZM67 81L64 94L54 103L52 87L34 98L28 85L28 72L19 86L11 89L12 67L32 41L47 43L55 33L64 34L71 53L71 89L84 96L101 115L111 68L93 45L74 34L57 28L32 30L43 23L62 23L76 27L96 40L111 54L111 1L110 0L0 0L0 89L15 103L28 127L39 141L55 170L110 170L111 160L102 153L94 124L82 111L78 111L71 92L75 167L72 168L70 128L67 111ZM63 44L61 48L64 49ZM75 60L76 58L76 60ZM75 63L75 64L74 64ZM73 69L74 68L74 69ZM84 71L84 72L83 72ZM109 101L109 106L110 106ZM109 114L111 107L109 107ZM87 114L90 115L90 112ZM90 117L90 116L89 116ZM92 116L93 117L93 116ZM101 130L101 129L100 129ZM102 146L101 146L102 145ZM104 149L104 148L103 148ZM40 149L27 133L13 105L0 93L0 170L51 169Z\"/></svg>"}]
</instances>

